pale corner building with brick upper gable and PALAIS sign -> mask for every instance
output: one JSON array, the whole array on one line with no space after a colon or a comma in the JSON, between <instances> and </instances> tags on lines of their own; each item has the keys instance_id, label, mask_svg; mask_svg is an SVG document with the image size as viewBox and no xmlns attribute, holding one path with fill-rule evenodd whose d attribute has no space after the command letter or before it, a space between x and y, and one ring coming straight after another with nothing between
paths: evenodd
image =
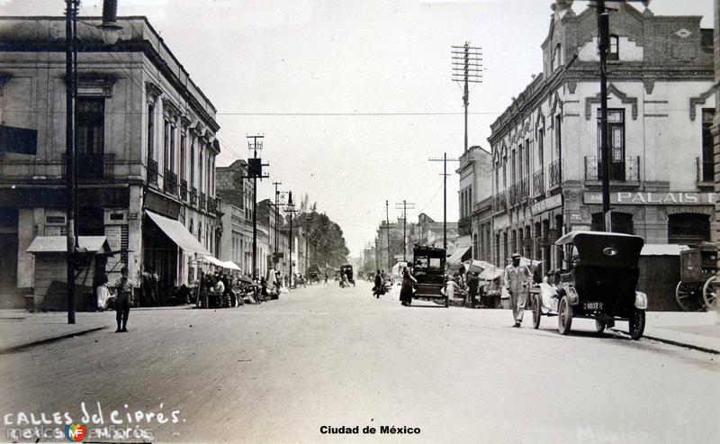
<instances>
[{"instance_id":1,"label":"pale corner building with brick upper gable and PALAIS sign","mask_svg":"<svg viewBox=\"0 0 720 444\"><path fill-rule=\"evenodd\" d=\"M544 71L491 125L492 258L559 267L563 232L601 227L596 12L556 2ZM613 231L646 243L713 240L713 40L699 16L610 14Z\"/></svg>"}]
</instances>

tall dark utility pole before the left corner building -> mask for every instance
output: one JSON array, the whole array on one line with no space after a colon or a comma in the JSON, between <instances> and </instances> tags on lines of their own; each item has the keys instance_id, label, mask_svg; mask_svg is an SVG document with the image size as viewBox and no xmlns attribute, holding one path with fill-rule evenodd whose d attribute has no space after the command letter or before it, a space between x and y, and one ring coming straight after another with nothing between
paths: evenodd
<instances>
[{"instance_id":1,"label":"tall dark utility pole before the left corner building","mask_svg":"<svg viewBox=\"0 0 720 444\"><path fill-rule=\"evenodd\" d=\"M67 323L75 323L75 29L76 0L65 2L65 220L67 236Z\"/></svg>"}]
</instances>

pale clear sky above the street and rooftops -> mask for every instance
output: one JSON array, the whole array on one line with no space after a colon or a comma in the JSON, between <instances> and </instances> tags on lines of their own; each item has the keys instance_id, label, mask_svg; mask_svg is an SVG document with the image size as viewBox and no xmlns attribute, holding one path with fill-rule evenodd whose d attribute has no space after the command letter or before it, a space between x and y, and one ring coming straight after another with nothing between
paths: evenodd
<instances>
[{"instance_id":1,"label":"pale clear sky above the street and rooftops","mask_svg":"<svg viewBox=\"0 0 720 444\"><path fill-rule=\"evenodd\" d=\"M83 0L81 15L101 15ZM464 150L462 89L451 46L482 48L470 92L469 144L489 150L490 124L542 70L552 0L118 0L146 15L218 110L218 166L248 156L264 134L271 182L309 195L343 229L351 255L403 200L443 220L442 163ZM703 15L712 0L653 0L654 14ZM59 15L62 0L0 0L2 15ZM580 13L587 2L576 1ZM638 4L638 8L643 9ZM458 218L459 177L448 164L447 220Z\"/></svg>"}]
</instances>

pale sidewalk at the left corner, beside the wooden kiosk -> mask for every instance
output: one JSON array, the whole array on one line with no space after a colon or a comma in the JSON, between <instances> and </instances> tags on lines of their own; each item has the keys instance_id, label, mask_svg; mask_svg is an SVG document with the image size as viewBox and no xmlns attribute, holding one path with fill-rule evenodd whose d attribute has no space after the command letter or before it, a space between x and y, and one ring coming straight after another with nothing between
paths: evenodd
<instances>
[{"instance_id":1,"label":"pale sidewalk at the left corner, beside the wooden kiosk","mask_svg":"<svg viewBox=\"0 0 720 444\"><path fill-rule=\"evenodd\" d=\"M0 310L0 355L70 338L90 331L114 328L108 313L77 313L76 323L67 323L67 312L27 313Z\"/></svg>"}]
</instances>

